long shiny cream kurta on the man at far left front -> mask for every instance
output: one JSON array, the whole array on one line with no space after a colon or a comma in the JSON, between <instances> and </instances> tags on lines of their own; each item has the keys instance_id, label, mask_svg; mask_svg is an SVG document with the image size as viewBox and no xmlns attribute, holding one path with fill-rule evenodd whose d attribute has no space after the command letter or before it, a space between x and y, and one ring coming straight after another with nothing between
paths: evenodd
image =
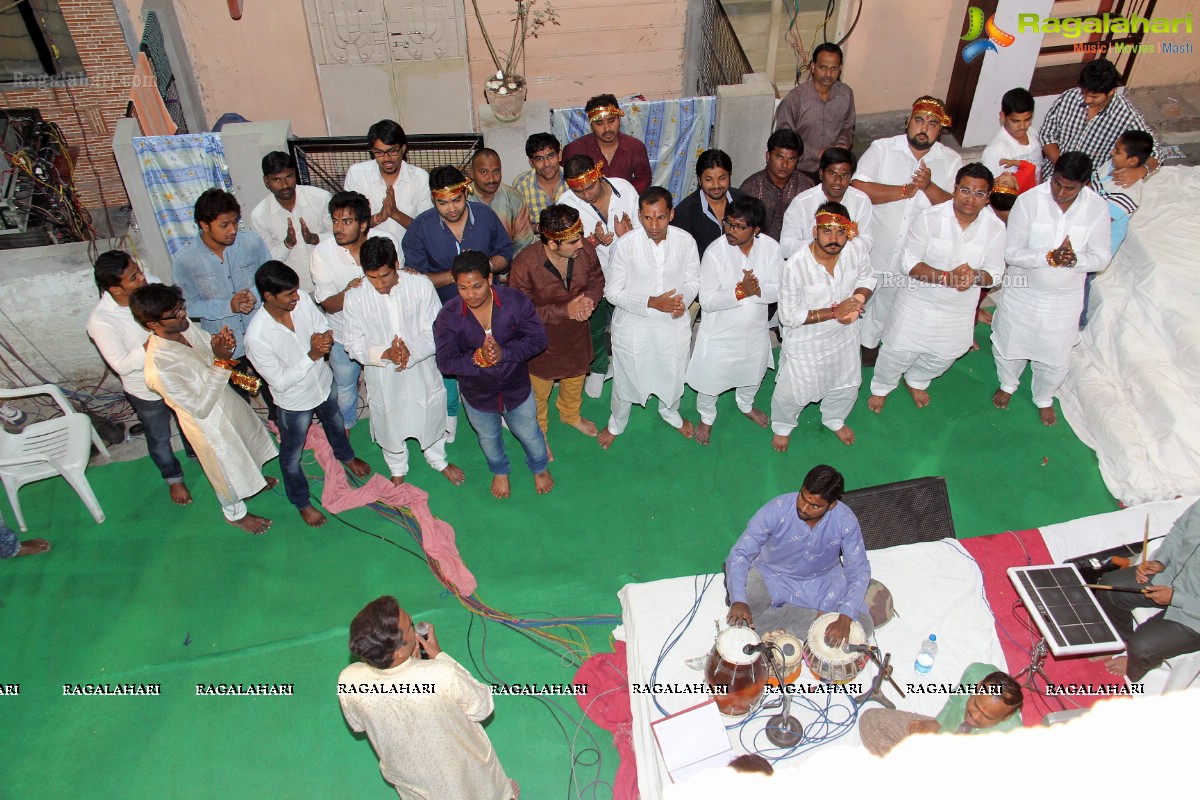
<instances>
[{"instance_id":1,"label":"long shiny cream kurta on the man at far left front","mask_svg":"<svg viewBox=\"0 0 1200 800\"><path fill-rule=\"evenodd\" d=\"M278 451L258 415L229 385L229 371L214 366L210 335L191 325L184 338L191 347L150 337L146 386L174 409L226 519L238 521L246 516L242 500L266 487L263 464Z\"/></svg>"}]
</instances>

